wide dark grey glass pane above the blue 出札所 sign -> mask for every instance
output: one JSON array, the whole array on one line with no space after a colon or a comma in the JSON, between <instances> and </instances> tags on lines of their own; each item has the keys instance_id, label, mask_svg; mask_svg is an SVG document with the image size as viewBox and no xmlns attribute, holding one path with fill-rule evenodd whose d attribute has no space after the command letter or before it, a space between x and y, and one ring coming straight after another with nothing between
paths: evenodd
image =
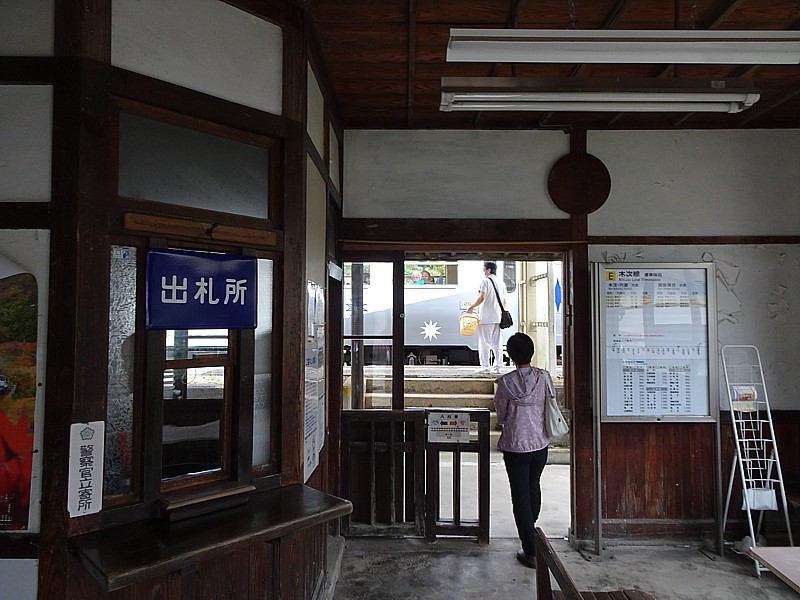
<instances>
[{"instance_id":1,"label":"wide dark grey glass pane above the blue \u51fa\u672d\u6240 sign","mask_svg":"<svg viewBox=\"0 0 800 600\"><path fill-rule=\"evenodd\" d=\"M120 196L267 218L266 148L130 113L119 119Z\"/></svg>"}]
</instances>

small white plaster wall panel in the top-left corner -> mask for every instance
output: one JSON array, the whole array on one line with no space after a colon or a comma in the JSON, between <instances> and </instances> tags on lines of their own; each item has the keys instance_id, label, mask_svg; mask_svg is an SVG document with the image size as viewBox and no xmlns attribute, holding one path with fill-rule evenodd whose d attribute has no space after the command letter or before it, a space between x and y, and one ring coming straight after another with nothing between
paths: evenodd
<instances>
[{"instance_id":1,"label":"small white plaster wall panel in the top-left corner","mask_svg":"<svg viewBox=\"0 0 800 600\"><path fill-rule=\"evenodd\" d=\"M0 56L52 56L55 0L0 0Z\"/></svg>"}]
</instances>

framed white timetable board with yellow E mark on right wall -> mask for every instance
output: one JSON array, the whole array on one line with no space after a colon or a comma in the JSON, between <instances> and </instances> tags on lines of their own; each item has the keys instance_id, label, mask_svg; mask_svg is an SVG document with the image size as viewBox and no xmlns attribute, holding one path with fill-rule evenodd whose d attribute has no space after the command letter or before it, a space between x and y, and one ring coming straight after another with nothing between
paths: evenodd
<instances>
[{"instance_id":1,"label":"framed white timetable board with yellow E mark on right wall","mask_svg":"<svg viewBox=\"0 0 800 600\"><path fill-rule=\"evenodd\" d=\"M595 265L604 421L714 420L712 264Z\"/></svg>"}]
</instances>

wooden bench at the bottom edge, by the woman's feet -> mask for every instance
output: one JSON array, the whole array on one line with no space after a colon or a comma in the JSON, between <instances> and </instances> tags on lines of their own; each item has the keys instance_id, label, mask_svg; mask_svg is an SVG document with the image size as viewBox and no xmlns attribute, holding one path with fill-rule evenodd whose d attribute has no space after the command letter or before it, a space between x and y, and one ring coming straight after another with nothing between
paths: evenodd
<instances>
[{"instance_id":1,"label":"wooden bench at the bottom edge, by the woman's feet","mask_svg":"<svg viewBox=\"0 0 800 600\"><path fill-rule=\"evenodd\" d=\"M550 573L558 583L560 591L553 591ZM639 590L617 590L612 592L581 592L564 568L544 532L536 528L536 598L537 600L656 600Z\"/></svg>"}]
</instances>

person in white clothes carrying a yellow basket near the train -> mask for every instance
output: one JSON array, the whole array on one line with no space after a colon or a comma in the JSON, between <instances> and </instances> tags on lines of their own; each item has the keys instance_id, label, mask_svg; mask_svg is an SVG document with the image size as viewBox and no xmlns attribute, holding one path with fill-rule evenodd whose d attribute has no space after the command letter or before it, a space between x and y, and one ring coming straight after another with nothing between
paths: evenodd
<instances>
[{"instance_id":1,"label":"person in white clothes carrying a yellow basket near the train","mask_svg":"<svg viewBox=\"0 0 800 600\"><path fill-rule=\"evenodd\" d=\"M506 306L506 288L497 280L497 263L483 263L483 280L479 288L478 297L467 309L468 313L473 312L480 306L478 318L478 358L481 366L479 373L499 373L502 364L502 354L500 354L500 303L497 301L498 294L502 301L502 307ZM494 284L494 286L492 286ZM495 288L497 294L494 293Z\"/></svg>"}]
</instances>

